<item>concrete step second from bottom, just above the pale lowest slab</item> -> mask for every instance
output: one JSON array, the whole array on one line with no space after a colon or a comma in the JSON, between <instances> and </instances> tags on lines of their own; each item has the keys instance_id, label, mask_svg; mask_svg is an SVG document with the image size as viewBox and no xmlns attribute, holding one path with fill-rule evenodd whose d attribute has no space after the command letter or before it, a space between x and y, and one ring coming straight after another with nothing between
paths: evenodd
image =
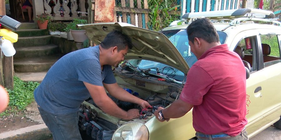
<instances>
[{"instance_id":1,"label":"concrete step second from bottom, just above the pale lowest slab","mask_svg":"<svg viewBox=\"0 0 281 140\"><path fill-rule=\"evenodd\" d=\"M48 71L51 66L57 62L62 54L53 56L45 56L38 58L15 58L14 70L15 72L43 72Z\"/></svg>"}]
</instances>

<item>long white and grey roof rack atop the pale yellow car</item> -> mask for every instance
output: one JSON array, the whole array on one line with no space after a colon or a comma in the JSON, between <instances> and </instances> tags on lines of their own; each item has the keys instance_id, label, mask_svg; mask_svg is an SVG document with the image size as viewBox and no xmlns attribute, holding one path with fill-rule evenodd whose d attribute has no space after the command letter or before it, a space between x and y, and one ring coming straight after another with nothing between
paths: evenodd
<instances>
[{"instance_id":1,"label":"long white and grey roof rack atop the pale yellow car","mask_svg":"<svg viewBox=\"0 0 281 140\"><path fill-rule=\"evenodd\" d=\"M239 17L257 17L271 19L275 15L271 11L254 9L254 8L242 8L242 9L232 9L232 10L223 10L223 11L208 11L208 12L192 12L185 13L182 18L190 19L197 17L206 17L210 20L233 20Z\"/></svg>"}]
</instances>

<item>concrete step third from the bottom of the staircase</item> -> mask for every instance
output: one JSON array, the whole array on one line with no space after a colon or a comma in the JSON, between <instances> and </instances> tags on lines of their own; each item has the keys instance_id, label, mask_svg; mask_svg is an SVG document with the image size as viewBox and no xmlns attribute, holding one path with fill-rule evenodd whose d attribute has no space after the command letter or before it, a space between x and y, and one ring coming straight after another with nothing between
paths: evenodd
<instances>
[{"instance_id":1,"label":"concrete step third from the bottom of the staircase","mask_svg":"<svg viewBox=\"0 0 281 140\"><path fill-rule=\"evenodd\" d=\"M15 47L15 49L16 54L14 55L14 58L34 58L59 53L59 47L54 44L32 47Z\"/></svg>"}]
</instances>

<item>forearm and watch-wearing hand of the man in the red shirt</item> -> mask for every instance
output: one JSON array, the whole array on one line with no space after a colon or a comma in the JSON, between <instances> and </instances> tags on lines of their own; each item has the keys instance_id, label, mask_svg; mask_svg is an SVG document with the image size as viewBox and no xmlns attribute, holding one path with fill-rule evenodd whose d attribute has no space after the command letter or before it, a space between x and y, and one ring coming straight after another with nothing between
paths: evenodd
<instances>
[{"instance_id":1,"label":"forearm and watch-wearing hand of the man in the red shirt","mask_svg":"<svg viewBox=\"0 0 281 140\"><path fill-rule=\"evenodd\" d=\"M168 108L163 109L162 107L159 107L158 110L154 112L154 115L158 119L158 112L162 110L164 118L168 121L170 118L180 118L184 116L188 111L191 110L192 107L193 105L190 105L179 98L178 100L175 100ZM160 122L165 121L160 119L158 120Z\"/></svg>"}]
</instances>

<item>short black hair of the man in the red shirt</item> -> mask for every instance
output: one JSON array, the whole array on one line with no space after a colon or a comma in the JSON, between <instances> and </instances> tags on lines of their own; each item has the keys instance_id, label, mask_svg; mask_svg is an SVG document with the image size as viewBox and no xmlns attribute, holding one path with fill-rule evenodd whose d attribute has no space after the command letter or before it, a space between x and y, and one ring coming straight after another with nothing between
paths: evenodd
<instances>
[{"instance_id":1,"label":"short black hair of the man in the red shirt","mask_svg":"<svg viewBox=\"0 0 281 140\"><path fill-rule=\"evenodd\" d=\"M187 28L188 40L194 43L194 38L201 38L208 43L219 42L219 35L213 23L207 18L199 18L193 21Z\"/></svg>"}]
</instances>

